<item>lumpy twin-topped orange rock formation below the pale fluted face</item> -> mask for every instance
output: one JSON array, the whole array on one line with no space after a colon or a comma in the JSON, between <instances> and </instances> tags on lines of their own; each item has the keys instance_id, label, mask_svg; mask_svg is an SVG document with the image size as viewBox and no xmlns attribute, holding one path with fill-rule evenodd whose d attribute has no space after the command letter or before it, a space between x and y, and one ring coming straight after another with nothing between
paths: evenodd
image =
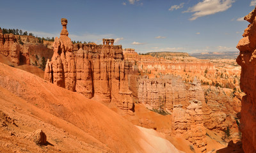
<instances>
[{"instance_id":1,"label":"lumpy twin-topped orange rock formation below the pale fluted face","mask_svg":"<svg viewBox=\"0 0 256 153\"><path fill-rule=\"evenodd\" d=\"M206 152L206 131L203 122L201 101L189 101L186 109L175 105L172 114L172 132L177 137L184 137L201 152Z\"/></svg>"}]
</instances>

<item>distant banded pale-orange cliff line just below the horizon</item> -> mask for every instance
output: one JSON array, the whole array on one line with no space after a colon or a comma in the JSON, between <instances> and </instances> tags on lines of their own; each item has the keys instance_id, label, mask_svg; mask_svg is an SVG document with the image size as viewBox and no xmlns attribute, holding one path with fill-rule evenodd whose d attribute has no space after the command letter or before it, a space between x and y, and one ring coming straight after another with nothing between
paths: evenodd
<instances>
[{"instance_id":1,"label":"distant banded pale-orange cliff line just below the horizon","mask_svg":"<svg viewBox=\"0 0 256 153\"><path fill-rule=\"evenodd\" d=\"M164 73L173 74L179 73L180 71L193 73L204 73L207 69L208 73L214 73L214 65L205 60L196 59L195 57L190 57L189 60L186 59L175 59L167 60L163 57L157 58L151 55L138 55L134 49L128 48L124 49L125 59L134 63L133 69L138 69L141 72L147 73Z\"/></svg>"}]
</instances>

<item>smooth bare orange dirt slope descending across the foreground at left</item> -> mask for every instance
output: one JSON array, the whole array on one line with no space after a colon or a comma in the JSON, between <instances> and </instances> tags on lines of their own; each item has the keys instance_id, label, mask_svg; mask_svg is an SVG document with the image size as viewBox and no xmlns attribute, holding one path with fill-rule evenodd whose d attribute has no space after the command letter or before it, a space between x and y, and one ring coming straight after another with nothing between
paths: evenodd
<instances>
[{"instance_id":1,"label":"smooth bare orange dirt slope descending across the foreground at left","mask_svg":"<svg viewBox=\"0 0 256 153\"><path fill-rule=\"evenodd\" d=\"M179 152L155 131L139 129L106 106L0 63L0 152ZM3 116L3 115L2 115ZM48 145L29 140L36 129ZM12 136L11 136L12 135Z\"/></svg>"}]
</instances>

